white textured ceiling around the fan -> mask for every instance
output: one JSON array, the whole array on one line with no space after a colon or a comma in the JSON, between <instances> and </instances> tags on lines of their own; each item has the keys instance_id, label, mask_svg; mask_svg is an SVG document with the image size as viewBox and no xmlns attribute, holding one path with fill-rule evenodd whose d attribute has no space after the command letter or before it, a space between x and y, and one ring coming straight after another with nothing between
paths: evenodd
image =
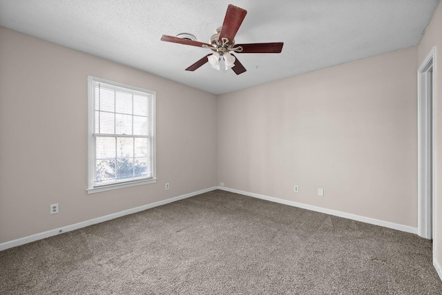
<instances>
[{"instance_id":1,"label":"white textured ceiling around the fan","mask_svg":"<svg viewBox=\"0 0 442 295\"><path fill-rule=\"evenodd\" d=\"M280 54L236 54L247 72L209 63L205 48L160 41L188 32L209 42L229 3L247 10L236 43L284 42ZM439 0L0 0L0 26L214 94L419 44ZM0 44L1 46L1 44Z\"/></svg>"}]
</instances>

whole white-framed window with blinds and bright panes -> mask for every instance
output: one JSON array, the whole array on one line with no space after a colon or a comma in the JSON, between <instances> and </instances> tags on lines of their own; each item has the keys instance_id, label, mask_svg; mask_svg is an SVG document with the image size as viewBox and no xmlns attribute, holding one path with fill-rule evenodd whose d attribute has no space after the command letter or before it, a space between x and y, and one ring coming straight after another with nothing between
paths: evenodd
<instances>
[{"instance_id":1,"label":"whole white-framed window with blinds and bright panes","mask_svg":"<svg viewBox=\"0 0 442 295\"><path fill-rule=\"evenodd\" d=\"M88 76L88 193L155 183L155 92Z\"/></svg>"}]
</instances>

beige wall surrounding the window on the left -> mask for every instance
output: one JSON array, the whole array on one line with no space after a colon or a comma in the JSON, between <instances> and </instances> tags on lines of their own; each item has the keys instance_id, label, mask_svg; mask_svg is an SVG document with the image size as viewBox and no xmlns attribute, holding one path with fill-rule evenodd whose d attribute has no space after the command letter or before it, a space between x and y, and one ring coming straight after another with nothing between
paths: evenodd
<instances>
[{"instance_id":1,"label":"beige wall surrounding the window on the left","mask_svg":"<svg viewBox=\"0 0 442 295\"><path fill-rule=\"evenodd\" d=\"M0 44L0 243L216 185L215 95L5 28ZM86 194L88 74L157 92L157 183Z\"/></svg>"}]
</instances>

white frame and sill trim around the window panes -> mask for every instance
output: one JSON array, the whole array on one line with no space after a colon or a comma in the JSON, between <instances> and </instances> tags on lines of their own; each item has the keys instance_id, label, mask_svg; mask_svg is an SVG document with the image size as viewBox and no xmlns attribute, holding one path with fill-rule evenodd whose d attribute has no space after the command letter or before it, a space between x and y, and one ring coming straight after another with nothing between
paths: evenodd
<instances>
[{"instance_id":1,"label":"white frame and sill trim around the window panes","mask_svg":"<svg viewBox=\"0 0 442 295\"><path fill-rule=\"evenodd\" d=\"M151 161L152 161L152 176L144 179L128 179L123 181L116 181L113 183L106 183L103 185L95 185L95 144L94 144L94 134L95 134L95 82L105 83L112 85L115 88L124 88L129 92L143 92L148 96L151 96L149 112L149 123L151 123L148 134L152 140L151 143ZM157 182L157 169L156 169L156 134L155 134L155 113L156 113L156 92L153 90L146 90L144 88L135 87L132 85L127 85L124 83L119 83L107 79L102 79L98 77L93 77L88 75L88 187L86 191L88 194L95 192L104 192L107 190L117 190L123 187L132 187L135 185L144 185L148 183Z\"/></svg>"}]
</instances>

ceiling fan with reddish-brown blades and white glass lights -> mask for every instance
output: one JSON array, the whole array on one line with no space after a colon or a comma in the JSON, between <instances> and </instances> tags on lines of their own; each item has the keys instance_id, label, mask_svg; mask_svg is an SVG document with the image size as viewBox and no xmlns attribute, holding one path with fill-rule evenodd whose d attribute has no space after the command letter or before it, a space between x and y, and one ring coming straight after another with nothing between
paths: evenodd
<instances>
[{"instance_id":1,"label":"ceiling fan with reddish-brown blades and white glass lights","mask_svg":"<svg viewBox=\"0 0 442 295\"><path fill-rule=\"evenodd\" d=\"M216 34L211 37L210 44L198 42L189 37L180 38L168 35L163 35L161 41L209 48L213 51L213 53L207 54L189 66L189 68L186 68L186 71L194 71L209 62L212 68L216 70L220 70L220 63L224 63L226 70L231 68L236 74L242 74L246 71L246 68L244 68L244 65L230 52L280 53L282 51L282 45L284 45L282 42L236 44L234 38L246 14L247 10L229 4L222 27L218 28Z\"/></svg>"}]
</instances>

